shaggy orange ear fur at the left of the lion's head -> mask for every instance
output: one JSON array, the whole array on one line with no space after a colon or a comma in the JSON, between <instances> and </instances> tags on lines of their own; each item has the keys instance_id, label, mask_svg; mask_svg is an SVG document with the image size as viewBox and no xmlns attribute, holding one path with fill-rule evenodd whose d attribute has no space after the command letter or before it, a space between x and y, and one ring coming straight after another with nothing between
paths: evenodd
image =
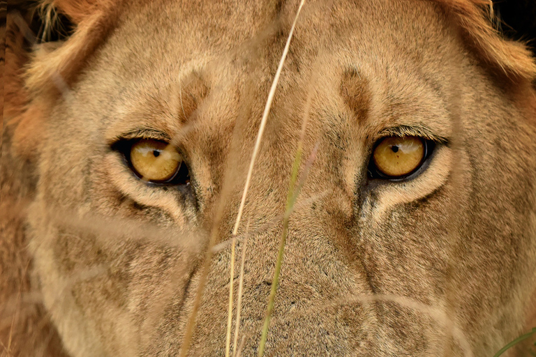
<instances>
[{"instance_id":1,"label":"shaggy orange ear fur at the left of the lion's head","mask_svg":"<svg viewBox=\"0 0 536 357\"><path fill-rule=\"evenodd\" d=\"M30 55L25 43L27 23L20 15L8 16L6 38L6 124L13 126L13 149L22 158L33 159L41 141L39 130L56 98L70 86L87 58L113 28L121 0L45 0L45 29L52 26L52 13L68 17L75 30L64 42L44 43Z\"/></svg>"}]
</instances>

